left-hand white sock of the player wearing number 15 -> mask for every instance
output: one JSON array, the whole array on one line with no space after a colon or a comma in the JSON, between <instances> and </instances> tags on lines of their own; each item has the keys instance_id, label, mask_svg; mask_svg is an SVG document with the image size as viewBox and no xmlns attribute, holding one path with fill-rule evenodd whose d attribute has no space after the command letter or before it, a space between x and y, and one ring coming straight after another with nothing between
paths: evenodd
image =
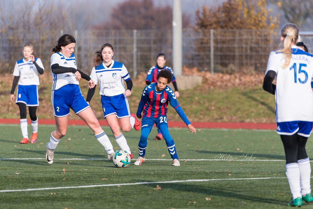
<instances>
[{"instance_id":1,"label":"left-hand white sock of the player wearing number 15","mask_svg":"<svg viewBox=\"0 0 313 209\"><path fill-rule=\"evenodd\" d=\"M297 197L302 198L300 186L300 169L298 163L288 163L285 165L285 167L292 198L294 200Z\"/></svg>"}]
</instances>

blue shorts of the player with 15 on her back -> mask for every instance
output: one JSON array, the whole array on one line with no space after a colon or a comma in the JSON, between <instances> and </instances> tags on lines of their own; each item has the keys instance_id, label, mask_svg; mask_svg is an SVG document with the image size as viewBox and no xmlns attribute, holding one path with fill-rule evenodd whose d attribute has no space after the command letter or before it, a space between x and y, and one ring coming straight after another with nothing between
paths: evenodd
<instances>
[{"instance_id":1,"label":"blue shorts of the player with 15 on her back","mask_svg":"<svg viewBox=\"0 0 313 209\"><path fill-rule=\"evenodd\" d=\"M313 122L308 121L290 121L277 123L277 133L280 135L298 135L309 137L312 131Z\"/></svg>"}]
</instances>

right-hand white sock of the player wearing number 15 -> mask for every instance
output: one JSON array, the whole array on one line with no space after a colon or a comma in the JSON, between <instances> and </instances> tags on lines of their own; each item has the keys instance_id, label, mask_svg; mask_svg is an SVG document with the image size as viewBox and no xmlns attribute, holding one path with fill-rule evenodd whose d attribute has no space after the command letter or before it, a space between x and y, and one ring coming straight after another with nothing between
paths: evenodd
<instances>
[{"instance_id":1,"label":"right-hand white sock of the player wearing number 15","mask_svg":"<svg viewBox=\"0 0 313 209\"><path fill-rule=\"evenodd\" d=\"M300 185L301 185L301 194L305 196L306 194L311 193L311 165L310 159L300 159L298 160L298 165L300 169Z\"/></svg>"}]
</instances>

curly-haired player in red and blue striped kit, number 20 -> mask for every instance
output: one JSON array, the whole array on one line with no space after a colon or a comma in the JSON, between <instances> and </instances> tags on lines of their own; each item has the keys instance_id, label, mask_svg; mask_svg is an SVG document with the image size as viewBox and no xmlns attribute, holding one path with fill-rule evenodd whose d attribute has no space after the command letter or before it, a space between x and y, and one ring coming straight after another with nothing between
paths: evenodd
<instances>
[{"instance_id":1,"label":"curly-haired player in red and blue striped kit, number 20","mask_svg":"<svg viewBox=\"0 0 313 209\"><path fill-rule=\"evenodd\" d=\"M167 128L167 105L170 105L176 110L178 115L186 123L192 133L196 133L196 129L189 122L182 108L179 106L176 96L168 84L172 81L172 73L170 71L160 71L156 76L157 82L150 84L144 88L141 95L141 100L138 105L137 118L141 118L141 136L138 143L139 157L134 165L141 165L145 161L147 138L151 132L153 124L161 130L167 145L168 152L173 159L174 166L180 166L174 140L172 139Z\"/></svg>"}]
</instances>

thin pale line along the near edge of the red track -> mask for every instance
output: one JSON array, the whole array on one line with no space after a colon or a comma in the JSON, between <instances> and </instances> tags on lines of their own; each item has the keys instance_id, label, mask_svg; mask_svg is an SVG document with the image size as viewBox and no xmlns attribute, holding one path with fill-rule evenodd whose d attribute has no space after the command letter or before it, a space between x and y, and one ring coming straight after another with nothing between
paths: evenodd
<instances>
[{"instance_id":1,"label":"thin pale line along the near edge of the red track","mask_svg":"<svg viewBox=\"0 0 313 209\"><path fill-rule=\"evenodd\" d=\"M5 124L0 123L0 126L18 126L20 124ZM30 125L28 125L30 126ZM55 125L38 125L39 127L55 127ZM88 126L76 126L76 125L69 125L71 128L89 128ZM109 126L102 126L106 128L110 128ZM188 128L168 128L169 130L188 130ZM230 128L198 128L200 131L256 131L256 132L276 132L276 130L267 130L267 129L230 129Z\"/></svg>"}]
</instances>

